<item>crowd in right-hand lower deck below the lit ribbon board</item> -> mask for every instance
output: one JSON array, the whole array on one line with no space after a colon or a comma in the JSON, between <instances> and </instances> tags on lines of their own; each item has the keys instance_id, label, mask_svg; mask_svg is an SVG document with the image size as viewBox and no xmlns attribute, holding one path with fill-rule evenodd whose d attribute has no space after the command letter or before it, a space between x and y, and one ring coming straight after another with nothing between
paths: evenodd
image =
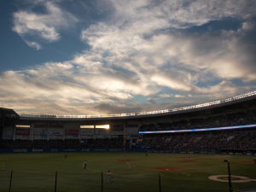
<instances>
[{"instance_id":1,"label":"crowd in right-hand lower deck below the lit ribbon board","mask_svg":"<svg viewBox=\"0 0 256 192\"><path fill-rule=\"evenodd\" d=\"M256 151L256 131L203 131L143 136L139 145L158 151Z\"/></svg>"}]
</instances>

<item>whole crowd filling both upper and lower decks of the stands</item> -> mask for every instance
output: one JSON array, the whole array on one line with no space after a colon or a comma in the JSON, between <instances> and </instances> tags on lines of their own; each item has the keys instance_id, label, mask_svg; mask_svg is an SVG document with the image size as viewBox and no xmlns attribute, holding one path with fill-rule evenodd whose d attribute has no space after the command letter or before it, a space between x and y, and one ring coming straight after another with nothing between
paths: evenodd
<instances>
[{"instance_id":1,"label":"whole crowd filling both upper and lower decks of the stands","mask_svg":"<svg viewBox=\"0 0 256 192\"><path fill-rule=\"evenodd\" d=\"M232 125L256 124L256 111L198 116L170 120L169 123L144 124L139 131L186 130ZM117 127L117 128L121 128ZM255 128L241 131L200 131L169 134L144 134L137 141L126 141L125 148L148 148L156 151L254 151ZM0 148L51 149L51 148L124 148L123 137L96 139L1 140Z\"/></svg>"}]
</instances>

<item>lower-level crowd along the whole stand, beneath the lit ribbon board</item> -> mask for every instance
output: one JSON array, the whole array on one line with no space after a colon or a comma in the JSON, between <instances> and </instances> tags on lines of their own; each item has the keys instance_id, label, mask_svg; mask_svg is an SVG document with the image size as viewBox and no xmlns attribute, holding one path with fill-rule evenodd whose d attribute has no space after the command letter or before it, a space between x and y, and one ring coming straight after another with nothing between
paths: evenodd
<instances>
[{"instance_id":1,"label":"lower-level crowd along the whole stand, beneath the lit ribbon board","mask_svg":"<svg viewBox=\"0 0 256 192\"><path fill-rule=\"evenodd\" d=\"M133 146L132 148L134 148ZM211 151L239 151L256 152L256 131L201 131L172 134L143 135L136 142L137 148L147 148L155 151L169 152L211 152ZM31 148L31 149L115 149L123 148L122 138L109 139L66 139L66 140L0 140L0 148ZM126 148L131 143L126 142Z\"/></svg>"}]
</instances>

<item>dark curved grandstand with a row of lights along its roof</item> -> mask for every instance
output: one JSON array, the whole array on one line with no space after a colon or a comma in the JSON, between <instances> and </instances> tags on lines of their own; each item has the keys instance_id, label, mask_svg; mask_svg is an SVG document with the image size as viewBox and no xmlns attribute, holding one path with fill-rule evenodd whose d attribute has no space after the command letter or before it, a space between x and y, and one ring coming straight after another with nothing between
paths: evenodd
<instances>
[{"instance_id":1,"label":"dark curved grandstand with a row of lights along its roof","mask_svg":"<svg viewBox=\"0 0 256 192\"><path fill-rule=\"evenodd\" d=\"M215 102L110 115L1 108L1 151L136 150L256 153L256 91Z\"/></svg>"}]
</instances>

